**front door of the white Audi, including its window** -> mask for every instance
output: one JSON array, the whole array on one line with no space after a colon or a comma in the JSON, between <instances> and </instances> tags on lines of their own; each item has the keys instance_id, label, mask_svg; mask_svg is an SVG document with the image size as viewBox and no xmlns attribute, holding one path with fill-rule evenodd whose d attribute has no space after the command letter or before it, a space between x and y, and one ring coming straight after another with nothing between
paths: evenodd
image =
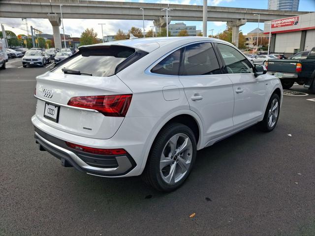
<instances>
[{"instance_id":1,"label":"front door of the white Audi, including its window","mask_svg":"<svg viewBox=\"0 0 315 236\"><path fill-rule=\"evenodd\" d=\"M266 89L264 76L254 76L252 63L236 48L217 43L224 62L225 73L233 84L233 123L247 125L260 120L264 115Z\"/></svg>"}]
</instances>

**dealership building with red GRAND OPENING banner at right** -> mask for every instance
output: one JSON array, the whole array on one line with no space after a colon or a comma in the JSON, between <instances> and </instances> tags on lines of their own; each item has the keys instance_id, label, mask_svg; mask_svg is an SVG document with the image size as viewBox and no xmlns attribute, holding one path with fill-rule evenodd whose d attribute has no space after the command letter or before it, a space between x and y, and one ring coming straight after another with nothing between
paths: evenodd
<instances>
[{"instance_id":1,"label":"dealership building with red GRAND OPENING banner at right","mask_svg":"<svg viewBox=\"0 0 315 236\"><path fill-rule=\"evenodd\" d=\"M264 34L269 34L269 31L271 53L292 56L301 51L311 50L315 47L315 12L266 21Z\"/></svg>"}]
</instances>

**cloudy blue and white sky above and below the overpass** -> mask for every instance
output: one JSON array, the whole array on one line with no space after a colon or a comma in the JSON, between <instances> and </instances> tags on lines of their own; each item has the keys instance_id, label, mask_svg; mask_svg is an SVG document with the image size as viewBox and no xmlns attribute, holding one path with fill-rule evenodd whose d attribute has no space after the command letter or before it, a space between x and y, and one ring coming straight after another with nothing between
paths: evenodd
<instances>
[{"instance_id":1,"label":"cloudy blue and white sky above and below the overpass","mask_svg":"<svg viewBox=\"0 0 315 236\"><path fill-rule=\"evenodd\" d=\"M100 0L101 1L101 0ZM109 1L109 0L107 0ZM113 1L113 0L110 0ZM116 0L126 2L149 2L149 3L170 3L170 4L186 4L186 5L202 5L203 0ZM209 6L225 6L225 7L241 7L267 9L268 0L208 0ZM315 0L300 0L299 11L315 11ZM139 14L142 12L139 10ZM171 12L169 13L171 16ZM202 30L202 22L198 21L171 21L171 24L184 22L188 26L196 26L196 29ZM5 30L11 30L15 34L27 34L25 21L21 18L0 18L0 23L4 25ZM115 35L118 29L127 32L132 26L142 28L142 20L93 20L93 19L63 19L64 33L70 34L72 37L80 37L81 33L87 28L94 28L97 32L97 37L102 37L101 26L99 23L105 23L103 26L103 34ZM32 25L36 29L40 29L43 33L53 33L52 26L48 19L28 19L29 27ZM145 30L150 30L153 26L153 21L145 21ZM252 29L258 27L258 23L247 23L240 27L244 34L247 34ZM263 29L263 24L260 23L260 29ZM208 22L207 29L214 29L213 33L226 29L226 22ZM60 28L62 33L62 29ZM210 31L208 32L210 34Z\"/></svg>"}]
</instances>

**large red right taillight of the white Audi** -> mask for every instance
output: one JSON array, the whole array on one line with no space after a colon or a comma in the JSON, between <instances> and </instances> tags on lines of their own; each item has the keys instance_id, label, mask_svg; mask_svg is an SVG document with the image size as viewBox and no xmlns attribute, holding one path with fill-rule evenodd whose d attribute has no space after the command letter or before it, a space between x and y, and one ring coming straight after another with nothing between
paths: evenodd
<instances>
[{"instance_id":1,"label":"large red right taillight of the white Audi","mask_svg":"<svg viewBox=\"0 0 315 236\"><path fill-rule=\"evenodd\" d=\"M132 94L71 97L69 106L93 109L107 117L125 117Z\"/></svg>"}]
</instances>

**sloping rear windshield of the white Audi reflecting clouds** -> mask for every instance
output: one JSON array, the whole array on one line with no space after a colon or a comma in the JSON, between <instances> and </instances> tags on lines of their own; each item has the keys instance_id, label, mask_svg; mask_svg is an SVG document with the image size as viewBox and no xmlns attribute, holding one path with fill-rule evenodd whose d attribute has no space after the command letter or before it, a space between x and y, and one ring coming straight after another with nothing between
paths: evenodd
<instances>
[{"instance_id":1,"label":"sloping rear windshield of the white Audi reflecting clouds","mask_svg":"<svg viewBox=\"0 0 315 236\"><path fill-rule=\"evenodd\" d=\"M117 73L116 67L121 68L124 65L122 62L127 58L131 61L130 63L133 63L146 54L142 51L140 53L136 52L135 49L125 46L81 48L78 55L65 59L66 61L58 65L52 72L63 73L62 68L67 68L91 73L93 76L106 77Z\"/></svg>"}]
</instances>

